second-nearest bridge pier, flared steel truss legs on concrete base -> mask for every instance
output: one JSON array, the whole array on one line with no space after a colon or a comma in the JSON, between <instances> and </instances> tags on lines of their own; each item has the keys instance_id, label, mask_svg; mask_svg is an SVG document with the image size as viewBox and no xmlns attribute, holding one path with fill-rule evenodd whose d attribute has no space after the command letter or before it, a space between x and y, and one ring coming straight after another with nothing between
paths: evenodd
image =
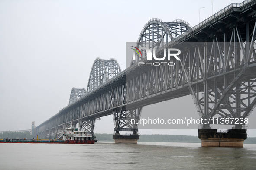
<instances>
[{"instance_id":1,"label":"second-nearest bridge pier, flared steel truss legs on concrete base","mask_svg":"<svg viewBox=\"0 0 256 170\"><path fill-rule=\"evenodd\" d=\"M133 110L126 110L126 107L113 109L113 119L115 124L115 134L113 139L115 143L137 143L139 140L138 125L131 122L132 119L139 119L142 107ZM133 134L121 135L119 131L132 131Z\"/></svg>"}]
</instances>

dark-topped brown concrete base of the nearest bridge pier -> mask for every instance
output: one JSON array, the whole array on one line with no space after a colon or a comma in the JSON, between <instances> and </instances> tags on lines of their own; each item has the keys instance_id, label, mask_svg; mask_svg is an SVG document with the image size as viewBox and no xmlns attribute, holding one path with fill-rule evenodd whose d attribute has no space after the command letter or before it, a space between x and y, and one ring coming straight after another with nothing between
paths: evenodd
<instances>
[{"instance_id":1,"label":"dark-topped brown concrete base of the nearest bridge pier","mask_svg":"<svg viewBox=\"0 0 256 170\"><path fill-rule=\"evenodd\" d=\"M243 147L247 138L246 129L228 129L217 132L217 129L198 129L198 138L202 146L207 147Z\"/></svg>"}]
</instances>

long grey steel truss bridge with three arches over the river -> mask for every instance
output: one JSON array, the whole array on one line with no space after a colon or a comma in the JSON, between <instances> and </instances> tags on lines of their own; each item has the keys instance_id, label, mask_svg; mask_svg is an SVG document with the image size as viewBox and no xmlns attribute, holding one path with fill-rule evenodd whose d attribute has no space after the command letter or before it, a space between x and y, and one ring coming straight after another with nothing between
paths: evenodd
<instances>
[{"instance_id":1,"label":"long grey steel truss bridge with three arches over the river","mask_svg":"<svg viewBox=\"0 0 256 170\"><path fill-rule=\"evenodd\" d=\"M174 66L138 65L148 62L143 54L121 72L116 60L97 58L87 92L73 88L69 105L37 126L36 134L54 137L71 121L93 133L95 120L110 114L115 131L136 132L137 125L126 120L139 119L143 106L189 94L200 118L214 118L205 128L217 118L248 117L256 104L255 11L255 0L230 4L193 28L183 20L151 19L136 47L149 47L156 56L179 48L181 61L172 57Z\"/></svg>"}]
</instances>

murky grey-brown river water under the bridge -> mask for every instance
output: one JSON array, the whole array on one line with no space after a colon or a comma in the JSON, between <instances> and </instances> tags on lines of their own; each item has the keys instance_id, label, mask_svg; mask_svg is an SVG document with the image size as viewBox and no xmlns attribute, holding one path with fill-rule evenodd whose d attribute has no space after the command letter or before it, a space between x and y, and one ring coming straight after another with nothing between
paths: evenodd
<instances>
[{"instance_id":1,"label":"murky grey-brown river water under the bridge","mask_svg":"<svg viewBox=\"0 0 256 170\"><path fill-rule=\"evenodd\" d=\"M13 169L256 169L256 144L204 148L201 143L164 142L1 143L0 170Z\"/></svg>"}]
</instances>

